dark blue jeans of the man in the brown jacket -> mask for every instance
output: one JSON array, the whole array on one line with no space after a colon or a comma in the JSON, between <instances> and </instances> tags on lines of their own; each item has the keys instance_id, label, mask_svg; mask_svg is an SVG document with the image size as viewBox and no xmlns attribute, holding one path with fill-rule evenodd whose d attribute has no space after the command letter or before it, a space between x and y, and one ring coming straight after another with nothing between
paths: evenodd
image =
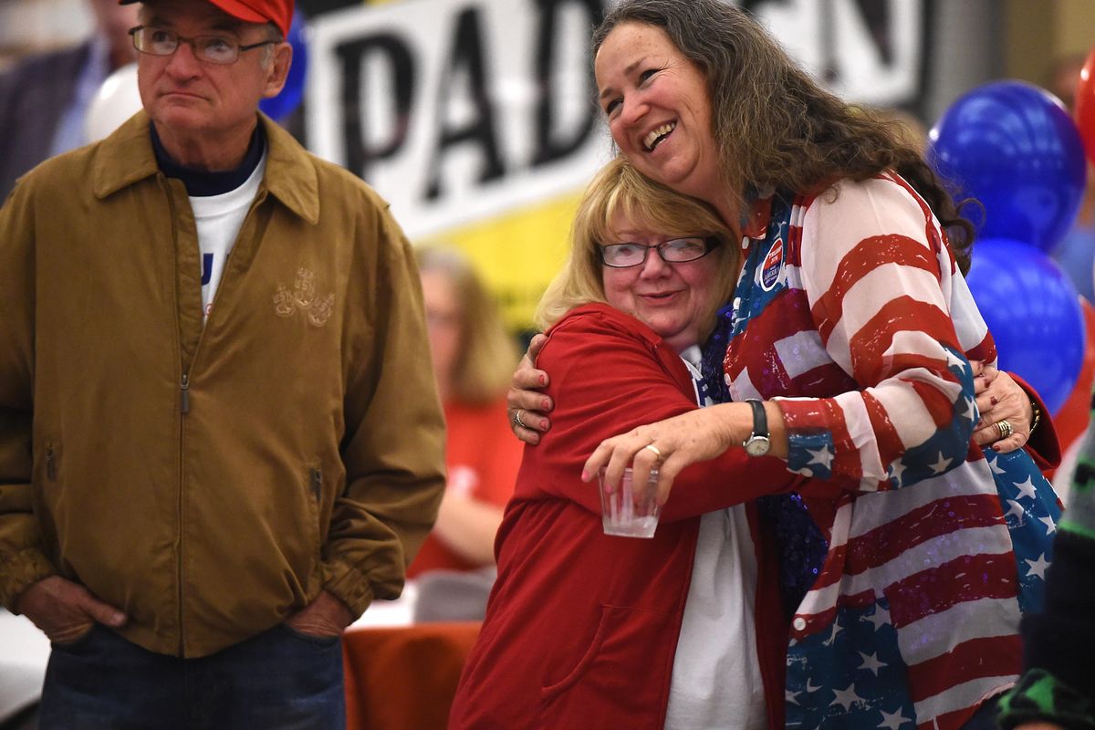
<instances>
[{"instance_id":1,"label":"dark blue jeans of the man in the brown jacket","mask_svg":"<svg viewBox=\"0 0 1095 730\"><path fill-rule=\"evenodd\" d=\"M324 730L346 727L342 639L276 626L178 659L96 625L55 646L39 730Z\"/></svg>"}]
</instances>

